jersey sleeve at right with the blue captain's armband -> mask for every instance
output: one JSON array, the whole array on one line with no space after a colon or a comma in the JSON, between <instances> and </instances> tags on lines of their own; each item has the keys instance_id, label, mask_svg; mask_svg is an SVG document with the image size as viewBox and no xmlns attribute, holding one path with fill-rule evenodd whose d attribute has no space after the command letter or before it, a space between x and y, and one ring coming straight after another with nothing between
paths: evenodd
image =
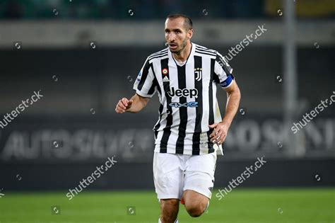
<instances>
[{"instance_id":1,"label":"jersey sleeve at right with the blue captain's armband","mask_svg":"<svg viewBox=\"0 0 335 223\"><path fill-rule=\"evenodd\" d=\"M218 83L220 83L222 88L228 88L231 84L233 84L235 79L233 76L233 68L230 67L227 59L225 59L225 57L218 52L216 52L214 73L216 74Z\"/></svg>"}]
</instances>

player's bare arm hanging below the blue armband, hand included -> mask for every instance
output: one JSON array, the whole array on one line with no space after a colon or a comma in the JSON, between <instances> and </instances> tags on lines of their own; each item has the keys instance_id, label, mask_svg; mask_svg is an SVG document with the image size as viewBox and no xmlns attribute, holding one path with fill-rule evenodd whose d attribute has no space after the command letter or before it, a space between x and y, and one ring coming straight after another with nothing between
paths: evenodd
<instances>
[{"instance_id":1,"label":"player's bare arm hanging below the blue armband, hand included","mask_svg":"<svg viewBox=\"0 0 335 223\"><path fill-rule=\"evenodd\" d=\"M227 105L225 106L225 116L219 123L209 125L211 129L214 129L211 133L211 141L216 144L223 144L225 137L227 137L228 129L233 122L233 119L237 113L238 106L240 105L241 93L238 88L236 81L225 88L227 92Z\"/></svg>"}]
</instances>

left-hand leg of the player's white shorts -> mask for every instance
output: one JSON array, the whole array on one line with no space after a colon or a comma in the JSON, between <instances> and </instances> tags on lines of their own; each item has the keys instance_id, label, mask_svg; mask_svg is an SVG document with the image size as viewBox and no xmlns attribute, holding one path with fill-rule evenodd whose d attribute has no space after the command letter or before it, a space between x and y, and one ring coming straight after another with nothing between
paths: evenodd
<instances>
[{"instance_id":1,"label":"left-hand leg of the player's white shorts","mask_svg":"<svg viewBox=\"0 0 335 223\"><path fill-rule=\"evenodd\" d=\"M153 181L158 199L180 199L182 197L183 173L179 154L153 155Z\"/></svg>"}]
</instances>

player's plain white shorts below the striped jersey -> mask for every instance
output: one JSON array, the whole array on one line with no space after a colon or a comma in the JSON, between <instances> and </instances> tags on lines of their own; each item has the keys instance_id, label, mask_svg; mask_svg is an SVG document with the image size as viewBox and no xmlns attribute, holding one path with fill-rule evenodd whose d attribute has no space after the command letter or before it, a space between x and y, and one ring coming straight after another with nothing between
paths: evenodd
<instances>
[{"instance_id":1,"label":"player's plain white shorts below the striped jersey","mask_svg":"<svg viewBox=\"0 0 335 223\"><path fill-rule=\"evenodd\" d=\"M158 199L181 199L184 190L194 190L211 199L216 152L204 155L153 155L153 181Z\"/></svg>"}]
</instances>

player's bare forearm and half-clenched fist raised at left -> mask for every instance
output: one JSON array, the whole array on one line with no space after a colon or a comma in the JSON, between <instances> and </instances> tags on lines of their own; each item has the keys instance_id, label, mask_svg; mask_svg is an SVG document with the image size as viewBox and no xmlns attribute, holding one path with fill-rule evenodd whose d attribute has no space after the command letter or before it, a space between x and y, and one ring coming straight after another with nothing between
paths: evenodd
<instances>
[{"instance_id":1,"label":"player's bare forearm and half-clenched fist raised at left","mask_svg":"<svg viewBox=\"0 0 335 223\"><path fill-rule=\"evenodd\" d=\"M146 104L149 100L150 98L144 98L135 93L134 96L130 98L130 100L128 100L127 98L122 98L121 100L119 100L119 102L117 103L117 107L115 108L115 112L119 114L125 112L138 113L144 107L146 107Z\"/></svg>"}]
</instances>

